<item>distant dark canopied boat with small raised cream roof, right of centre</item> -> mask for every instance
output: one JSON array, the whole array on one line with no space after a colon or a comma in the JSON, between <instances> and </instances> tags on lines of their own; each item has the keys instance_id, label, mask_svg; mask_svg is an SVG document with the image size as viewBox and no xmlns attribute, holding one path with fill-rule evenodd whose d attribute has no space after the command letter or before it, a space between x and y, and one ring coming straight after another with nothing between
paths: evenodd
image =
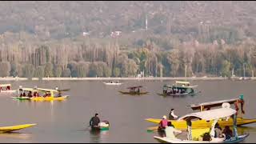
<instances>
[{"instance_id":1,"label":"distant dark canopied boat with small raised cream roof, right of centre","mask_svg":"<svg viewBox=\"0 0 256 144\"><path fill-rule=\"evenodd\" d=\"M190 82L180 82L176 81L174 85L168 86L164 85L162 88L162 96L186 96L186 95L196 95L199 92L194 90L194 87L190 86Z\"/></svg>"}]
</instances>

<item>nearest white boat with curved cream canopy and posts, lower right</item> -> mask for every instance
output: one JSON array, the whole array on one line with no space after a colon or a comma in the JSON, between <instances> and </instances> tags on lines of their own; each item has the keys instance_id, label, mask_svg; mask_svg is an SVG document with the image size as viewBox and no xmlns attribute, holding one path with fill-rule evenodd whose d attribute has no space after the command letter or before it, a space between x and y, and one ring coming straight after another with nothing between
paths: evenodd
<instances>
[{"instance_id":1,"label":"nearest white boat with curved cream canopy and posts, lower right","mask_svg":"<svg viewBox=\"0 0 256 144\"><path fill-rule=\"evenodd\" d=\"M188 140L182 140L179 138L160 138L158 136L154 136L155 139L157 139L159 142L168 142L168 143L237 143L237 142L242 142L245 140L249 134L243 134L243 135L238 135L237 131L237 125L236 121L233 123L233 130L234 130L234 135L229 139L225 140L226 138L214 138L214 126L218 122L218 119L230 119L230 117L233 117L233 119L236 118L236 110L233 110L230 108L230 105L228 103L223 104L223 107L220 109L215 109L215 110L206 110L202 112L197 112L197 113L192 113L192 114L186 114L182 118L178 118L178 121L190 121L192 122L193 126L193 121L198 119L202 119L204 121L210 121L210 126L208 131L202 131L202 134L208 132L210 134L210 141L202 141L202 138L195 138L192 135L192 130L187 130L189 135L191 135L190 139ZM202 135L200 134L200 135ZM200 137L199 135L199 137Z\"/></svg>"}]
</instances>

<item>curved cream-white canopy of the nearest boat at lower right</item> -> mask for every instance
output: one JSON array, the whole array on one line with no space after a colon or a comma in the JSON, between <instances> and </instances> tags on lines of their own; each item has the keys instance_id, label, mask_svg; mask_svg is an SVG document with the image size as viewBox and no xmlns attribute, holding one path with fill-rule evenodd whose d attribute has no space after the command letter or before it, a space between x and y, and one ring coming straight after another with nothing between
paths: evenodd
<instances>
[{"instance_id":1,"label":"curved cream-white canopy of the nearest boat at lower right","mask_svg":"<svg viewBox=\"0 0 256 144\"><path fill-rule=\"evenodd\" d=\"M236 114L236 110L233 110L231 108L220 108L215 110L206 110L202 112L186 114L185 116L178 118L178 121L186 120L186 119L195 119L195 118L200 118L206 121L210 121L218 118L227 118L233 114Z\"/></svg>"}]
</instances>

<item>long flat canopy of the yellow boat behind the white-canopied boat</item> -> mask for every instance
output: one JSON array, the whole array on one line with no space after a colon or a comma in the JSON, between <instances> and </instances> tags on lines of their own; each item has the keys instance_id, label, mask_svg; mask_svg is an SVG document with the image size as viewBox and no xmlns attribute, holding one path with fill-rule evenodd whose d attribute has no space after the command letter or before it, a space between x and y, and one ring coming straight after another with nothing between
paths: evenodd
<instances>
[{"instance_id":1,"label":"long flat canopy of the yellow boat behind the white-canopied boat","mask_svg":"<svg viewBox=\"0 0 256 144\"><path fill-rule=\"evenodd\" d=\"M239 98L233 98L233 99L226 99L226 100L214 101L214 102L203 102L203 103L199 103L199 104L190 105L189 107L192 110L202 110L202 107L203 108L210 108L210 107L222 106L222 103L224 103L224 102L234 104L234 102L237 102L238 99Z\"/></svg>"}]
</instances>

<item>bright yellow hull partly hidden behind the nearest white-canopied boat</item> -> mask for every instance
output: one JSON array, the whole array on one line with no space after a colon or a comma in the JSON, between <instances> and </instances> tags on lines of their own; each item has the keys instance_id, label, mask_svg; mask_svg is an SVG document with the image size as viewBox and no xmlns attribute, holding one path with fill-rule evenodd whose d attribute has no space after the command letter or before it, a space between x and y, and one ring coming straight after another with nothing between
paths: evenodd
<instances>
[{"instance_id":1,"label":"bright yellow hull partly hidden behind the nearest white-canopied boat","mask_svg":"<svg viewBox=\"0 0 256 144\"><path fill-rule=\"evenodd\" d=\"M146 119L147 122L153 122L153 123L159 123L161 121L161 119L154 119L154 118L147 118ZM186 121L176 121L176 120L169 120L175 128L180 129L180 130L186 130ZM209 122L207 122L206 120L197 120L197 121L192 121L192 129L203 129L203 128L207 128L207 127L211 127L211 124L214 121L211 120ZM245 119L245 118L237 118L237 126L243 126L246 124L250 124L250 123L254 123L256 122L256 119ZM233 126L233 119L229 118L228 121L223 120L223 121L218 121L218 124L220 126ZM153 129L158 129L158 126L154 126L154 128L151 128L151 130Z\"/></svg>"}]
</instances>

